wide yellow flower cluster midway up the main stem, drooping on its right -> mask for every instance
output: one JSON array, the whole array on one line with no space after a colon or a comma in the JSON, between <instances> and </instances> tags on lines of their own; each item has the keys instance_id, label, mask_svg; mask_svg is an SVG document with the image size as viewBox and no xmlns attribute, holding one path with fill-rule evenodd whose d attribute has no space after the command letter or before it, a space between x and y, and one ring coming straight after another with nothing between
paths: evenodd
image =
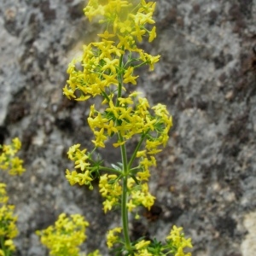
<instances>
[{"instance_id":1,"label":"wide yellow flower cluster midway up the main stem, drooping on its right","mask_svg":"<svg viewBox=\"0 0 256 256\"><path fill-rule=\"evenodd\" d=\"M120 134L123 138L116 143L114 147L119 147L136 134L152 135L147 138L146 148L139 156L146 158L147 154L157 154L161 151L160 146L165 146L168 140L168 131L172 127L172 116L167 112L166 106L158 104L152 108L152 115L148 100L142 97L136 97L137 92L133 92L128 97L118 98L118 106L113 103L113 96L109 96L108 107L103 113L96 111L94 106L90 108L90 117L88 123L96 137L92 142L96 148L105 148L105 141L113 134ZM142 162L148 169L150 161Z\"/></svg>"}]
</instances>

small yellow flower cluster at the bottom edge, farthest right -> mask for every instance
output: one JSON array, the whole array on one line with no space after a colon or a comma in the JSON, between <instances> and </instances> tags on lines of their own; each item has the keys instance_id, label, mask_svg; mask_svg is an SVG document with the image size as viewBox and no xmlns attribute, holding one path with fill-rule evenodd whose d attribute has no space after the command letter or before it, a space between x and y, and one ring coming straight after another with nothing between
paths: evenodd
<instances>
[{"instance_id":1,"label":"small yellow flower cluster at the bottom edge, farthest right","mask_svg":"<svg viewBox=\"0 0 256 256\"><path fill-rule=\"evenodd\" d=\"M182 227L177 228L177 226L174 225L170 232L170 236L166 237L166 241L170 244L170 247L174 249L172 250L172 253L175 253L174 256L191 256L191 253L183 252L185 247L192 248L193 246L191 238L184 238L183 233L181 233L182 230Z\"/></svg>"}]
</instances>

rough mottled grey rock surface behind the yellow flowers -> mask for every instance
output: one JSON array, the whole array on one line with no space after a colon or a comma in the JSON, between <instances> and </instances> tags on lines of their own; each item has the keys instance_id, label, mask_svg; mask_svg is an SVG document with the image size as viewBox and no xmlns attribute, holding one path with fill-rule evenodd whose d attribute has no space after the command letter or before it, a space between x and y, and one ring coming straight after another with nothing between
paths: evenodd
<instances>
[{"instance_id":1,"label":"rough mottled grey rock surface behind the yellow flowers","mask_svg":"<svg viewBox=\"0 0 256 256\"><path fill-rule=\"evenodd\" d=\"M192 237L195 256L253 255L256 1L157 2L158 38L144 47L162 57L153 73L141 70L138 84L152 104L168 106L174 127L150 183L160 216L134 223L132 235L163 239L177 224ZM84 214L90 222L84 250L99 247L108 255L105 233L119 222L118 212L103 214L96 189L65 179L68 147L91 148L90 102L70 102L61 91L68 62L96 38L98 26L89 24L83 6L0 2L0 143L20 137L26 164L23 176L0 178L19 216L15 255L48 255L34 232L61 212Z\"/></svg>"}]
</instances>

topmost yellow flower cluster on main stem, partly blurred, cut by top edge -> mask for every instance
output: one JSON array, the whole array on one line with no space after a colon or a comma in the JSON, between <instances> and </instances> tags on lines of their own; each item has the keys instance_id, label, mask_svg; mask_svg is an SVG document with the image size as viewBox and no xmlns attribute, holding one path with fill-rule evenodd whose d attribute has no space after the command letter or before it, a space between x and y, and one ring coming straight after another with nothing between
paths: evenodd
<instances>
[{"instance_id":1,"label":"topmost yellow flower cluster on main stem, partly blurred, cut by top edge","mask_svg":"<svg viewBox=\"0 0 256 256\"><path fill-rule=\"evenodd\" d=\"M107 23L109 30L113 34L104 32L100 35L102 38L113 38L115 34L119 37L127 37L124 41L128 44L137 38L139 42L143 40L142 36L148 33L148 41L152 42L156 37L155 26L149 32L146 24L154 24L152 18L155 3L145 0L123 1L123 0L90 0L84 8L84 14L91 21L93 17L103 16L100 23ZM130 37L128 37L130 36ZM133 43L134 44L134 43Z\"/></svg>"}]
</instances>

